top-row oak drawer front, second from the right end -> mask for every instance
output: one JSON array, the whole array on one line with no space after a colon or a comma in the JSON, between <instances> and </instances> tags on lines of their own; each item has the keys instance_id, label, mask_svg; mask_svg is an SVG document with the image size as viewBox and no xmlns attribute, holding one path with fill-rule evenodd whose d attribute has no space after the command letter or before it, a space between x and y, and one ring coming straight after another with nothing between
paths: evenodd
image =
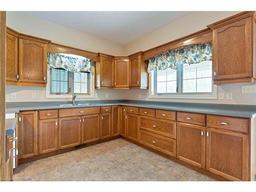
<instances>
[{"instance_id":1,"label":"top-row oak drawer front, second from the right end","mask_svg":"<svg viewBox=\"0 0 256 192\"><path fill-rule=\"evenodd\" d=\"M177 121L205 126L205 115L198 113L177 112Z\"/></svg>"}]
</instances>

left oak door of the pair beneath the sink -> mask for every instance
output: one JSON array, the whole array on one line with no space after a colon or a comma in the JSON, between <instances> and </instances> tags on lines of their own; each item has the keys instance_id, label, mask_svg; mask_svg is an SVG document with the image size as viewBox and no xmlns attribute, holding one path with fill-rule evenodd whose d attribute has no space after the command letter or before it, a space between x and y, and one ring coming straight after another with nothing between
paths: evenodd
<instances>
[{"instance_id":1,"label":"left oak door of the pair beneath the sink","mask_svg":"<svg viewBox=\"0 0 256 192\"><path fill-rule=\"evenodd\" d=\"M68 148L81 144L81 117L59 118L58 148Z\"/></svg>"}]
</instances>

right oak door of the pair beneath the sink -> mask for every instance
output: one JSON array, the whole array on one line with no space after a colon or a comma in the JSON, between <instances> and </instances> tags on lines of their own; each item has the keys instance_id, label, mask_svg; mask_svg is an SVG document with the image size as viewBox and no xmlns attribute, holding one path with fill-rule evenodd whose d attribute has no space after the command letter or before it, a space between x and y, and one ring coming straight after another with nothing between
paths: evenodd
<instances>
[{"instance_id":1,"label":"right oak door of the pair beneath the sink","mask_svg":"<svg viewBox=\"0 0 256 192\"><path fill-rule=\"evenodd\" d=\"M82 119L82 143L97 141L100 138L100 114L86 115Z\"/></svg>"}]
</instances>

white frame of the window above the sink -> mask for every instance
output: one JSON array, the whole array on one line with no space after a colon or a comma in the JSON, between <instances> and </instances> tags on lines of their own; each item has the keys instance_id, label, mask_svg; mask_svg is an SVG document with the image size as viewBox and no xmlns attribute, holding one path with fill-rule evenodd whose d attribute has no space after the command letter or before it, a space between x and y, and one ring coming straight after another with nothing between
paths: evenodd
<instances>
[{"instance_id":1,"label":"white frame of the window above the sink","mask_svg":"<svg viewBox=\"0 0 256 192\"><path fill-rule=\"evenodd\" d=\"M94 98L94 92L95 92L95 81L94 81L94 73L90 73L90 91L89 94L82 94L79 93L77 94L76 98ZM58 95L58 94L51 94L51 77L50 77L50 69L47 69L47 84L46 84L46 98L73 98L72 94L63 94L63 95Z\"/></svg>"}]
</instances>

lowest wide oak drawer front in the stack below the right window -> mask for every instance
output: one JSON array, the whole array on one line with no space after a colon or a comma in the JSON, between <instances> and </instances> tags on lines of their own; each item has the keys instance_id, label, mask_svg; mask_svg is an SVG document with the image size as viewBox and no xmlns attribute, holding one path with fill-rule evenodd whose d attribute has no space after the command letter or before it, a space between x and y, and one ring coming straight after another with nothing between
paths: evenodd
<instances>
[{"instance_id":1,"label":"lowest wide oak drawer front in the stack below the right window","mask_svg":"<svg viewBox=\"0 0 256 192\"><path fill-rule=\"evenodd\" d=\"M140 142L170 156L176 156L176 140L140 130Z\"/></svg>"}]
</instances>

